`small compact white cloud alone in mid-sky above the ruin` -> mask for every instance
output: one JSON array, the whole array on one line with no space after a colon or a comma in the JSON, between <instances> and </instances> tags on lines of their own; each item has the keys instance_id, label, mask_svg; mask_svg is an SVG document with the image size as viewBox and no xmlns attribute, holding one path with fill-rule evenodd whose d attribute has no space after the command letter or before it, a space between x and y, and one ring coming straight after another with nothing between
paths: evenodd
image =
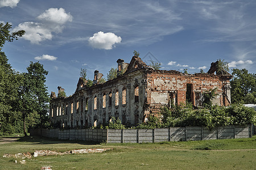
<instances>
[{"instance_id":1,"label":"small compact white cloud alone in mid-sky above the ruin","mask_svg":"<svg viewBox=\"0 0 256 170\"><path fill-rule=\"evenodd\" d=\"M112 49L114 44L120 43L122 41L121 37L118 37L112 32L97 32L94 33L92 37L89 38L89 44L93 48L98 49ZM115 46L114 46L115 47Z\"/></svg>"}]
</instances>

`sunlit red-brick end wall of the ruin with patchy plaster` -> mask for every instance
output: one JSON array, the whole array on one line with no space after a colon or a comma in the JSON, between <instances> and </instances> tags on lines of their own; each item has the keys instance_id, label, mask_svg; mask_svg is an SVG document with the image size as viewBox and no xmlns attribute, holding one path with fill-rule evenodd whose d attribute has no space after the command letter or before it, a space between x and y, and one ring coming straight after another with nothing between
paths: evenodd
<instances>
[{"instance_id":1,"label":"sunlit red-brick end wall of the ruin with patchy plaster","mask_svg":"<svg viewBox=\"0 0 256 170\"><path fill-rule=\"evenodd\" d=\"M211 74L184 74L178 71L155 70L147 72L147 113L157 113L163 105L181 104L191 101L201 107L205 91L217 89L214 105L230 104L229 80ZM225 79L225 80L224 80ZM224 91L225 89L225 91Z\"/></svg>"}]
</instances>

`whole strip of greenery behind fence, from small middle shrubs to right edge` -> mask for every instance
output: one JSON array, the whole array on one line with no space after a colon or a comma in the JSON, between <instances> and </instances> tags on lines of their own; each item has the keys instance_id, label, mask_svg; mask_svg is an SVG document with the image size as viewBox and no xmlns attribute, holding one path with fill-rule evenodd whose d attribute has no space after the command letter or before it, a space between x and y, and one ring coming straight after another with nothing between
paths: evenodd
<instances>
[{"instance_id":1,"label":"whole strip of greenery behind fence, from small middle shrubs to right edge","mask_svg":"<svg viewBox=\"0 0 256 170\"><path fill-rule=\"evenodd\" d=\"M146 123L133 127L121 124L119 118L109 122L105 129L155 129L179 126L206 126L211 129L217 126L256 124L256 111L242 104L233 104L229 107L214 105L208 108L193 109L191 104L172 105L172 108L163 107L158 116L150 115Z\"/></svg>"}]
</instances>

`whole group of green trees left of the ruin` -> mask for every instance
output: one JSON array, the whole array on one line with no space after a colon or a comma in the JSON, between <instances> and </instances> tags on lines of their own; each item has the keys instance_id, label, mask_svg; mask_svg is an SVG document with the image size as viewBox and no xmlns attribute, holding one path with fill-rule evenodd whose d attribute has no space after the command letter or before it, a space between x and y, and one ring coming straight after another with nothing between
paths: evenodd
<instances>
[{"instance_id":1,"label":"whole group of green trees left of the ruin","mask_svg":"<svg viewBox=\"0 0 256 170\"><path fill-rule=\"evenodd\" d=\"M2 47L18 40L25 31L10 33L11 24L0 23L0 135L23 133L28 128L48 126L48 71L39 62L30 62L26 73L19 73L8 63Z\"/></svg>"}]
</instances>

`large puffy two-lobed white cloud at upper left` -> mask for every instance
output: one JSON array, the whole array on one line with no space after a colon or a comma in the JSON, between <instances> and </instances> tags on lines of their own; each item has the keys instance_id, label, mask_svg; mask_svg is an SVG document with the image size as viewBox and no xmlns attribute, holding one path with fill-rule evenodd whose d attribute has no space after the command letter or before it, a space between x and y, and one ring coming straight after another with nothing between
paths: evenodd
<instances>
[{"instance_id":1,"label":"large puffy two-lobed white cloud at upper left","mask_svg":"<svg viewBox=\"0 0 256 170\"><path fill-rule=\"evenodd\" d=\"M24 22L13 29L13 32L18 30L26 31L22 36L23 39L29 40L32 44L52 40L53 33L60 33L66 22L72 21L71 14L65 13L63 8L49 8L43 14L38 16L41 22Z\"/></svg>"}]
</instances>

